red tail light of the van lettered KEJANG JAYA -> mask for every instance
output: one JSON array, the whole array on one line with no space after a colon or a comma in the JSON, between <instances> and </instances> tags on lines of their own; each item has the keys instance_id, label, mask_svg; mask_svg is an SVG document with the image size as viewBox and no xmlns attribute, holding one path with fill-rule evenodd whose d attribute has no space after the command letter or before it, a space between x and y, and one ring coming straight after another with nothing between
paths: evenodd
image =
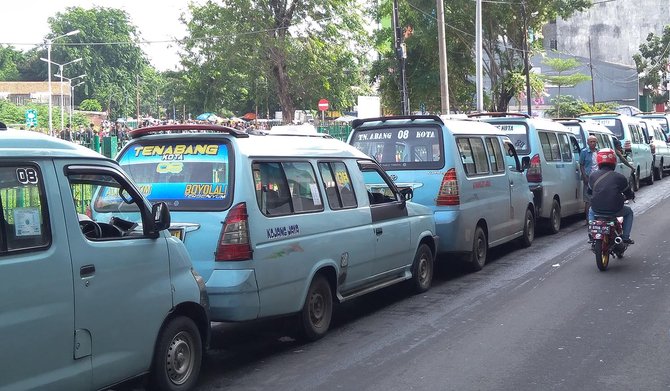
<instances>
[{"instance_id":1,"label":"red tail light of the van lettered KEJANG JAYA","mask_svg":"<svg viewBox=\"0 0 670 391\"><path fill-rule=\"evenodd\" d=\"M251 259L251 253L247 204L241 202L230 209L223 222L214 260L246 261Z\"/></svg>"}]
</instances>

